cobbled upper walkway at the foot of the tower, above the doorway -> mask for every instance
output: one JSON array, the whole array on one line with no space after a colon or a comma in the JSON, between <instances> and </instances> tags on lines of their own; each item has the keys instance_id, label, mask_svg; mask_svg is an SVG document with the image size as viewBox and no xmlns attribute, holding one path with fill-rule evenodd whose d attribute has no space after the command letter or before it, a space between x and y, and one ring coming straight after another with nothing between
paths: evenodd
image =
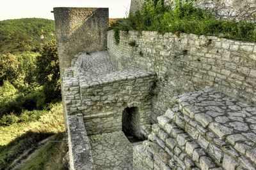
<instances>
[{"instance_id":1,"label":"cobbled upper walkway at the foot of the tower, above the doorway","mask_svg":"<svg viewBox=\"0 0 256 170\"><path fill-rule=\"evenodd\" d=\"M137 68L118 70L111 64L107 51L80 53L72 62L72 68L83 87L142 78L154 74Z\"/></svg>"}]
</instances>

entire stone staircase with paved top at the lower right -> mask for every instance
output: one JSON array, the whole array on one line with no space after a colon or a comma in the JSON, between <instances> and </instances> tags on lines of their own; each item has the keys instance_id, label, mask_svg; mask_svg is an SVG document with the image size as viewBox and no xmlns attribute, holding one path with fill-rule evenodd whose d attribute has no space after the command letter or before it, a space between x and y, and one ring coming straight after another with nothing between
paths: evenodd
<instances>
[{"instance_id":1,"label":"entire stone staircase with paved top at the lower right","mask_svg":"<svg viewBox=\"0 0 256 170\"><path fill-rule=\"evenodd\" d=\"M134 148L134 169L256 169L255 107L212 89L176 102Z\"/></svg>"}]
</instances>

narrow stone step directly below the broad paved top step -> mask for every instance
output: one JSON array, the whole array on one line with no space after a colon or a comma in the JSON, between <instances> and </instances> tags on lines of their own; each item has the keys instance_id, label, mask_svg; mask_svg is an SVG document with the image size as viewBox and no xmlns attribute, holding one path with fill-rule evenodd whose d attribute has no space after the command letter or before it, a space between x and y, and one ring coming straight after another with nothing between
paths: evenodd
<instances>
[{"instance_id":1,"label":"narrow stone step directly below the broad paved top step","mask_svg":"<svg viewBox=\"0 0 256 170\"><path fill-rule=\"evenodd\" d=\"M178 127L184 129L191 138L204 149L208 155L213 157L224 169L235 169L243 167L244 169L255 169L252 163L245 157L239 155L235 148L218 138L214 133L207 131L197 122L193 122L186 115L182 115L179 111L166 111L165 117ZM233 167L230 166L232 162Z\"/></svg>"}]
</instances>

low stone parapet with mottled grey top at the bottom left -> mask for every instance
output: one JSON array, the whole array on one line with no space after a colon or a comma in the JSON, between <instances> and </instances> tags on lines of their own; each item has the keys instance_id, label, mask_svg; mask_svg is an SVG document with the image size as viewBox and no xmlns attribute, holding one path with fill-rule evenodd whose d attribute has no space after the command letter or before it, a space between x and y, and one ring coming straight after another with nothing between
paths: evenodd
<instances>
[{"instance_id":1,"label":"low stone parapet with mottled grey top at the bottom left","mask_svg":"<svg viewBox=\"0 0 256 170\"><path fill-rule=\"evenodd\" d=\"M67 124L70 169L95 169L83 115L68 116Z\"/></svg>"}]
</instances>

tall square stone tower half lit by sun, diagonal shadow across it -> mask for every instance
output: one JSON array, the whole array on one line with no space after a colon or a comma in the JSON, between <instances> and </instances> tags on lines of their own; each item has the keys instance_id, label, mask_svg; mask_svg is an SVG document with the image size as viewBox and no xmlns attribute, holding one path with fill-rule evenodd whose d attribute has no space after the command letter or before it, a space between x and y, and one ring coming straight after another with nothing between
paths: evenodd
<instances>
[{"instance_id":1,"label":"tall square stone tower half lit by sun, diagonal shadow across it","mask_svg":"<svg viewBox=\"0 0 256 170\"><path fill-rule=\"evenodd\" d=\"M108 8L54 8L61 76L79 52L106 50Z\"/></svg>"}]
</instances>

